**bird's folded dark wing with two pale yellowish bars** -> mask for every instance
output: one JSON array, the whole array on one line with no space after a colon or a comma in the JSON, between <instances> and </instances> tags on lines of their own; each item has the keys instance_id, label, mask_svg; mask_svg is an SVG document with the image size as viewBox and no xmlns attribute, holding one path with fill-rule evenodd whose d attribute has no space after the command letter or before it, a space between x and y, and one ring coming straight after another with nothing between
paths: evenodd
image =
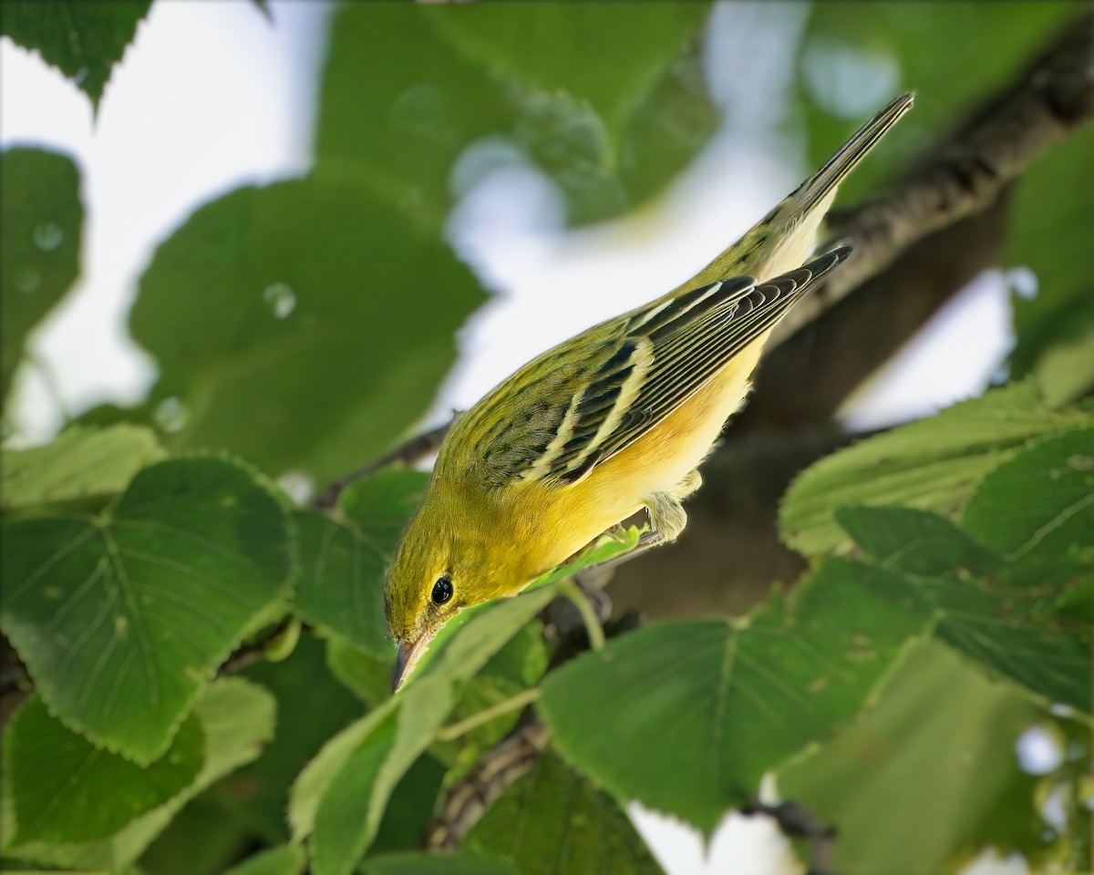
<instances>
[{"instance_id":1,"label":"bird's folded dark wing with two pale yellowish bars","mask_svg":"<svg viewBox=\"0 0 1094 875\"><path fill-rule=\"evenodd\" d=\"M702 388L849 253L763 283L736 277L656 301L614 330L600 326L539 357L476 417L490 423L476 441L490 479L581 480Z\"/></svg>"}]
</instances>

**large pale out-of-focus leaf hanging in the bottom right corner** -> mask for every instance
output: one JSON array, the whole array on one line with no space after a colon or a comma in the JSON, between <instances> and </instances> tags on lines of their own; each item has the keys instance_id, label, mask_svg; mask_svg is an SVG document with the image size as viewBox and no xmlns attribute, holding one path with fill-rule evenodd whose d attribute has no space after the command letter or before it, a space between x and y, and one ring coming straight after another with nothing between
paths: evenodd
<instances>
[{"instance_id":1,"label":"large pale out-of-focus leaf hanging in the bottom right corner","mask_svg":"<svg viewBox=\"0 0 1094 875\"><path fill-rule=\"evenodd\" d=\"M981 848L1046 848L1017 737L1040 710L936 644L916 648L860 720L779 777L785 797L839 830L847 875L950 872Z\"/></svg>"}]
</instances>

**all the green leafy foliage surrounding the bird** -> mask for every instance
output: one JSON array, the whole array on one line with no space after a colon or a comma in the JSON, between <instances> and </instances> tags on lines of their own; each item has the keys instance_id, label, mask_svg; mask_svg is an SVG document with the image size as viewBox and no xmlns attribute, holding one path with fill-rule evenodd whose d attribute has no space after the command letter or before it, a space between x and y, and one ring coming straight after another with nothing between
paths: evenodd
<instances>
[{"instance_id":1,"label":"all the green leafy foliage surrounding the bird","mask_svg":"<svg viewBox=\"0 0 1094 875\"><path fill-rule=\"evenodd\" d=\"M150 5L5 2L3 34L106 112ZM815 165L889 96L865 102L870 82L918 94L847 202L1078 12L793 9L794 50L756 61L785 83L772 148ZM1000 385L802 474L779 518L807 571L765 579L745 616L693 608L548 672L548 581L452 630L393 700L379 585L424 475L383 470L329 511L292 488L380 456L430 410L497 285L451 244L476 183L519 164L572 229L650 222L715 132L747 118L715 100L711 70L726 68L709 60L710 15L699 2L339 8L307 171L178 223L128 317L155 362L147 396L71 411L34 448L16 428L25 353L78 281L86 182L55 150L5 149L0 628L22 686L4 696L5 866L680 871L622 806L709 836L765 775L839 827L840 872L936 872L985 849L1089 861L1089 126L1008 194L997 264L1027 267L1037 293L1013 298ZM551 748L470 831L477 859L406 856L516 716L455 739L443 726L536 686ZM1031 738L1055 758L1023 769Z\"/></svg>"}]
</instances>

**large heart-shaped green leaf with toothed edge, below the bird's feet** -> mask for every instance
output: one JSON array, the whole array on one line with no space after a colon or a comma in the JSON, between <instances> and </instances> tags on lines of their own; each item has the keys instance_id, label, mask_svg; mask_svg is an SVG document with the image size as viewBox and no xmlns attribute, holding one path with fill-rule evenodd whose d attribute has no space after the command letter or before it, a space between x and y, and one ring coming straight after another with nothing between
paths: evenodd
<instances>
[{"instance_id":1,"label":"large heart-shaped green leaf with toothed edge, below the bird's feet","mask_svg":"<svg viewBox=\"0 0 1094 875\"><path fill-rule=\"evenodd\" d=\"M574 768L709 835L849 722L923 629L887 579L828 560L744 621L641 628L551 672L537 709Z\"/></svg>"}]
</instances>

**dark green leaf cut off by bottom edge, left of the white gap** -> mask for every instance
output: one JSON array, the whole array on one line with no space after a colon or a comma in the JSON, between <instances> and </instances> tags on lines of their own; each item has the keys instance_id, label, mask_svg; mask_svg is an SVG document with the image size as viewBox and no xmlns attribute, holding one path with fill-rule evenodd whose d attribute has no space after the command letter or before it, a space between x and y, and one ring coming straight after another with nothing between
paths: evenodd
<instances>
[{"instance_id":1,"label":"dark green leaf cut off by bottom edge, left of the white gap","mask_svg":"<svg viewBox=\"0 0 1094 875\"><path fill-rule=\"evenodd\" d=\"M556 756L494 802L463 842L524 875L660 875L622 809Z\"/></svg>"}]
</instances>

